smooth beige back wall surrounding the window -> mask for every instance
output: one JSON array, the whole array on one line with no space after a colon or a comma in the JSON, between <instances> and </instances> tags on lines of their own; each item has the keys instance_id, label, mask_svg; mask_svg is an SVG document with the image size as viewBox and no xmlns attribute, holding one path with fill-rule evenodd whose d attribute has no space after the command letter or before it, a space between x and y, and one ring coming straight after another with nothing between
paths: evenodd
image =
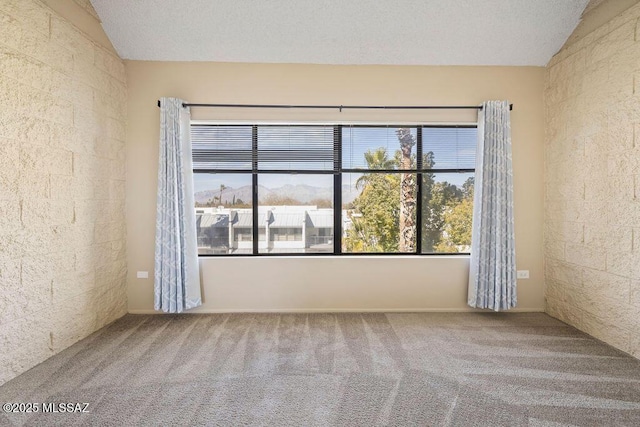
<instances>
[{"instance_id":1,"label":"smooth beige back wall surrounding the window","mask_svg":"<svg viewBox=\"0 0 640 427\"><path fill-rule=\"evenodd\" d=\"M539 67L394 67L126 61L127 260L130 312L153 309L153 251L162 96L258 104L477 105L512 114L519 307L543 309L543 105ZM475 121L464 112L343 113L193 109L193 119ZM466 310L466 257L201 258L204 305L225 310ZM137 279L136 271L150 272Z\"/></svg>"}]
</instances>

